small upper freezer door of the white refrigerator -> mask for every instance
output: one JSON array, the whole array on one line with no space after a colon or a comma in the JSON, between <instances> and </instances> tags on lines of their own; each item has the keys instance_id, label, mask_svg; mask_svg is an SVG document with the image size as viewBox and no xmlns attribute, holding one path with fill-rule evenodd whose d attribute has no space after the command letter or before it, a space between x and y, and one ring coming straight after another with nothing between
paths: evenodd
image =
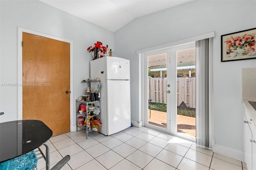
<instances>
[{"instance_id":1,"label":"small upper freezer door of the white refrigerator","mask_svg":"<svg viewBox=\"0 0 256 170\"><path fill-rule=\"evenodd\" d=\"M106 80L130 80L130 60L106 57Z\"/></svg>"}]
</instances>

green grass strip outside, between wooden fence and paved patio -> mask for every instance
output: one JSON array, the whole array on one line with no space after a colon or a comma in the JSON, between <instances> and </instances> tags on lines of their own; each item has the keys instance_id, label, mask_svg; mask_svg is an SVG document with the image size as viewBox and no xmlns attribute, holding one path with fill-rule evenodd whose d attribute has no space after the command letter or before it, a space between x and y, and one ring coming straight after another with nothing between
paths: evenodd
<instances>
[{"instance_id":1,"label":"green grass strip outside, between wooden fence and paved patio","mask_svg":"<svg viewBox=\"0 0 256 170\"><path fill-rule=\"evenodd\" d=\"M164 103L151 103L151 110L166 112L167 106ZM187 108L185 110L177 109L178 115L196 117L196 111L192 108Z\"/></svg>"}]
</instances>

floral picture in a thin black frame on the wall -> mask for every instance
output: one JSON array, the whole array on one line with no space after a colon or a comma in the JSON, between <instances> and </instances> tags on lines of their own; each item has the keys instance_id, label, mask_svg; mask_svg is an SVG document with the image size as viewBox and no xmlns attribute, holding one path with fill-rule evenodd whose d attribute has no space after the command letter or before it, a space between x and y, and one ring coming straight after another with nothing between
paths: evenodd
<instances>
[{"instance_id":1,"label":"floral picture in a thin black frame on the wall","mask_svg":"<svg viewBox=\"0 0 256 170\"><path fill-rule=\"evenodd\" d=\"M221 62L256 59L256 28L221 36Z\"/></svg>"}]
</instances>

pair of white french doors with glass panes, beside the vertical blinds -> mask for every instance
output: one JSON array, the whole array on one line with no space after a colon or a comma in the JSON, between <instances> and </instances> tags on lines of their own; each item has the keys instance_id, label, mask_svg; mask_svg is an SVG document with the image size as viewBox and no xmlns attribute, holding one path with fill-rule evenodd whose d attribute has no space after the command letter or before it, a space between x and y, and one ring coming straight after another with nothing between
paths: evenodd
<instances>
[{"instance_id":1,"label":"pair of white french doors with glass panes, beside the vertical blinds","mask_svg":"<svg viewBox=\"0 0 256 170\"><path fill-rule=\"evenodd\" d=\"M187 90L185 97L180 93L184 93L184 82L190 83L190 78L195 77L195 54L191 54L194 48L195 43L190 43L144 53L144 126L191 141L195 141L195 135L188 135L186 117L177 115L177 107L180 108L181 101L186 110L194 107L190 104L192 95L187 97ZM195 91L193 93L195 97ZM195 131L195 121L192 128Z\"/></svg>"}]
</instances>

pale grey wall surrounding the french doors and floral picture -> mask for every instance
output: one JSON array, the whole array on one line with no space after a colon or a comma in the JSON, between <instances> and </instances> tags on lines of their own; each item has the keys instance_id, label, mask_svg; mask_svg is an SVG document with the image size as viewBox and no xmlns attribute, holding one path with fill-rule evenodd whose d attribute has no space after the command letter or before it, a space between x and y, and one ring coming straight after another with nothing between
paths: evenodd
<instances>
[{"instance_id":1,"label":"pale grey wall surrounding the french doors and floral picture","mask_svg":"<svg viewBox=\"0 0 256 170\"><path fill-rule=\"evenodd\" d=\"M243 10L244 9L244 10ZM137 18L115 32L115 51L131 64L132 120L139 113L139 57L136 50L216 31L213 54L215 144L243 151L241 68L256 59L220 62L220 36L256 28L256 1L192 1Z\"/></svg>"}]
</instances>

